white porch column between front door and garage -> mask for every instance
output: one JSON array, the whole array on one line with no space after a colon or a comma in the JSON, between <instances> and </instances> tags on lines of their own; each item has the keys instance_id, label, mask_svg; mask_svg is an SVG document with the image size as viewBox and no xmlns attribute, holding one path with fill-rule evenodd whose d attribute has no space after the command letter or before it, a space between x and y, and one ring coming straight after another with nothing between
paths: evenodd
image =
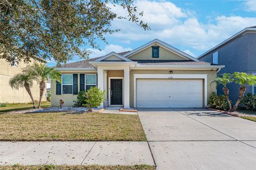
<instances>
[{"instance_id":1,"label":"white porch column between front door and garage","mask_svg":"<svg viewBox=\"0 0 256 170\"><path fill-rule=\"evenodd\" d=\"M124 108L130 108L130 69L124 69Z\"/></svg>"}]
</instances>

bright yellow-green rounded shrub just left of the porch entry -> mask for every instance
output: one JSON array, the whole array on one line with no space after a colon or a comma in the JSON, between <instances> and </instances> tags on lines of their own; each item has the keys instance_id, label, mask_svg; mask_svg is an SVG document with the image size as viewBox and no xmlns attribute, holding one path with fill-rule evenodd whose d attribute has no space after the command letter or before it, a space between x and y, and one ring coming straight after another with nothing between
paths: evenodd
<instances>
[{"instance_id":1,"label":"bright yellow-green rounded shrub just left of the porch entry","mask_svg":"<svg viewBox=\"0 0 256 170\"><path fill-rule=\"evenodd\" d=\"M105 101L105 91L98 87L91 87L83 96L86 98L86 104L83 106L86 106L89 111L92 107L98 107Z\"/></svg>"}]
</instances>

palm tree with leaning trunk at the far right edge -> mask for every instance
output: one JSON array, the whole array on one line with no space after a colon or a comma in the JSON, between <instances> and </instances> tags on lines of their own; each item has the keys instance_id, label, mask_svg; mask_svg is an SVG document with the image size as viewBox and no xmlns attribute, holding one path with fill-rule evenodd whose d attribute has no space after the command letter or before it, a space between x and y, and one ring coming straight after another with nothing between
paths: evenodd
<instances>
[{"instance_id":1,"label":"palm tree with leaning trunk at the far right edge","mask_svg":"<svg viewBox=\"0 0 256 170\"><path fill-rule=\"evenodd\" d=\"M233 73L235 83L239 84L239 95L236 101L236 104L230 110L231 112L235 112L238 104L240 103L241 99L243 98L245 91L246 91L246 84L255 85L256 84L256 76L252 74L246 74L243 72L235 72Z\"/></svg>"}]
</instances>

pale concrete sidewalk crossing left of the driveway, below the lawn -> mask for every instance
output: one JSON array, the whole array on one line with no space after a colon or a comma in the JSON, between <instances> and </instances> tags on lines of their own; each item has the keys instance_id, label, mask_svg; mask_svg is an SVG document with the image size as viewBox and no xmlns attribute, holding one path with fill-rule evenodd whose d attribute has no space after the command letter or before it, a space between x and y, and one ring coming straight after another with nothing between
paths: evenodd
<instances>
[{"instance_id":1,"label":"pale concrete sidewalk crossing left of the driveway, below the lawn","mask_svg":"<svg viewBox=\"0 0 256 170\"><path fill-rule=\"evenodd\" d=\"M0 142L0 165L154 165L147 142Z\"/></svg>"}]
</instances>

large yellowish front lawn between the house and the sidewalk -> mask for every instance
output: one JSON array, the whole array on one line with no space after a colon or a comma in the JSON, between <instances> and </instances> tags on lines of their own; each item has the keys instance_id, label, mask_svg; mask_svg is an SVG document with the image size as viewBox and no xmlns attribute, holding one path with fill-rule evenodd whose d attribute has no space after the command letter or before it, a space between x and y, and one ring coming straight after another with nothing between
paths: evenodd
<instances>
[{"instance_id":1,"label":"large yellowish front lawn between the house and the sidewalk","mask_svg":"<svg viewBox=\"0 0 256 170\"><path fill-rule=\"evenodd\" d=\"M2 141L146 141L138 115L33 113L0 115Z\"/></svg>"}]
</instances>

